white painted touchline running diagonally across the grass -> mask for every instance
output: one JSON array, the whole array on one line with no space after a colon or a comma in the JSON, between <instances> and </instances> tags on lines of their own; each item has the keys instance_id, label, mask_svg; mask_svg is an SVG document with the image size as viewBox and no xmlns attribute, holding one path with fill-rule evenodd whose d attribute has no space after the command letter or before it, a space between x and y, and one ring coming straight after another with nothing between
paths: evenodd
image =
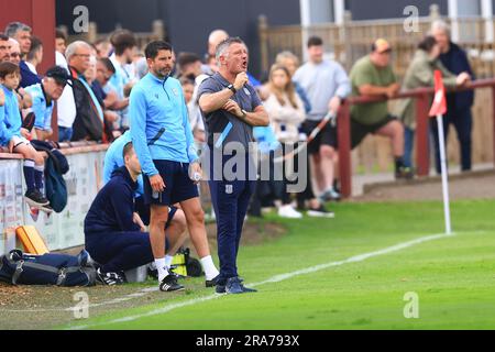
<instances>
[{"instance_id":1,"label":"white painted touchline running diagonally across the grass","mask_svg":"<svg viewBox=\"0 0 495 352\"><path fill-rule=\"evenodd\" d=\"M469 233L485 233L484 231L481 232L469 232ZM320 265L316 265L316 266L311 266L305 270L300 270L300 271L296 271L296 272L292 272L292 273L287 273L287 274L280 274L280 275L275 275L266 280L260 282L260 283L254 283L249 285L249 287L256 287L256 286L262 286L265 284L271 284L271 283L278 283L282 280L286 280L289 278L293 278L295 276L299 276L299 275L305 275L305 274L310 274L310 273L315 273L315 272L319 272L329 267L333 267L333 266L340 266L343 264L349 264L349 263L358 263L358 262L363 262L370 257L374 257L374 256L380 256L380 255L384 255L384 254L388 254L388 253L393 253L393 252L397 252L417 244L421 244L425 242L429 242L429 241L435 241L435 240L439 240L439 239L448 239L448 238L452 238L454 237L455 233L453 234L432 234L432 235L428 235L428 237L424 237L424 238L419 238L413 241L408 241L408 242L404 242L404 243L399 243L383 250L378 250L375 252L370 252L370 253L364 253L364 254L359 254L359 255L354 255L351 256L346 260L343 261L338 261L338 262L330 262L330 263L326 263L326 264L320 264ZM142 315L135 315L135 316L129 316L129 317L124 317L124 318L119 318L119 319L113 319L110 321L106 321L106 322L99 322L99 323L94 323L94 324L85 324L85 326L74 326L68 328L68 330L84 330L84 329L89 329L89 328L95 328L95 327L100 327L100 326L107 326L107 324L112 324L112 323L119 323L119 322L128 322L128 321L133 321L133 320L138 320L141 318L145 318L145 317L152 317L152 316L156 316L156 315L163 315L166 314L170 310L174 309L178 309L178 308L183 308L183 307L188 307L188 306L194 306L204 301L208 301L208 300L212 300L219 297L222 297L223 295L218 295L218 294L213 294L213 295L209 295L206 297L201 297L201 298L194 298L190 300L186 300L183 302L177 302L177 304L170 304L167 305L163 308L160 309L155 309L152 311L148 311L146 314L142 314Z\"/></svg>"}]
</instances>

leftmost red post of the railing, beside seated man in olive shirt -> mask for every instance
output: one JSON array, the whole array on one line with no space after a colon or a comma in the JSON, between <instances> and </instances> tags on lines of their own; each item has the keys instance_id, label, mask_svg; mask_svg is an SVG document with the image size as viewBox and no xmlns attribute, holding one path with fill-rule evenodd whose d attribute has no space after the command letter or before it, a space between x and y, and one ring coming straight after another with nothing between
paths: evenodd
<instances>
[{"instance_id":1,"label":"leftmost red post of the railing, beside seated man in olive shirt","mask_svg":"<svg viewBox=\"0 0 495 352\"><path fill-rule=\"evenodd\" d=\"M337 117L337 139L339 141L339 174L341 194L344 198L352 196L351 169L351 105L344 100Z\"/></svg>"}]
</instances>

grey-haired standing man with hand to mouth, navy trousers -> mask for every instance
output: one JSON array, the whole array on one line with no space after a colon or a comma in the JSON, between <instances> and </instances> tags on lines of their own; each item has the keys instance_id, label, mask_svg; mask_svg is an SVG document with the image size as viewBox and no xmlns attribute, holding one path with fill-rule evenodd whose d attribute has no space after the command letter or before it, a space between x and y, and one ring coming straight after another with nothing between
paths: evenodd
<instances>
[{"instance_id":1,"label":"grey-haired standing man with hand to mouth, navy trousers","mask_svg":"<svg viewBox=\"0 0 495 352\"><path fill-rule=\"evenodd\" d=\"M248 84L248 48L242 40L232 37L221 42L217 59L219 73L206 79L198 92L207 127L209 186L217 216L220 260L217 293L242 294L254 292L242 285L237 267L242 226L256 182L249 144L253 142L253 127L267 125L268 114ZM242 151L229 155L227 150L235 145L242 146ZM227 175L224 166L230 165L232 158L237 166L232 167L233 175Z\"/></svg>"}]
</instances>

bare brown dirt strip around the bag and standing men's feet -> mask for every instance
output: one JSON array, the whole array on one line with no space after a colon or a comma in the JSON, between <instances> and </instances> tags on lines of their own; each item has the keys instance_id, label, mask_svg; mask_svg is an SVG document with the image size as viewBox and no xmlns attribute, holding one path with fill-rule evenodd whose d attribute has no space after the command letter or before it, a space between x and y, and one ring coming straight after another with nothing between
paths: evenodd
<instances>
[{"instance_id":1,"label":"bare brown dirt strip around the bag and standing men's feet","mask_svg":"<svg viewBox=\"0 0 495 352\"><path fill-rule=\"evenodd\" d=\"M212 252L217 250L217 224L207 224L208 241ZM283 226L248 221L242 234L242 244L260 245L286 233ZM193 250L189 241L186 246ZM77 254L81 249L75 248L65 253ZM197 257L193 250L193 256ZM205 278L186 278L182 282L186 290L182 293L161 293L156 282L128 284L121 286L94 287L53 287L53 286L11 286L0 283L0 330L51 329L56 326L76 321L72 310L79 300L77 293L85 293L89 299L89 316L95 317L117 309L139 307L154 302L167 302L177 296L191 295L205 290ZM213 292L211 288L208 292ZM84 323L84 321L82 321Z\"/></svg>"}]
</instances>

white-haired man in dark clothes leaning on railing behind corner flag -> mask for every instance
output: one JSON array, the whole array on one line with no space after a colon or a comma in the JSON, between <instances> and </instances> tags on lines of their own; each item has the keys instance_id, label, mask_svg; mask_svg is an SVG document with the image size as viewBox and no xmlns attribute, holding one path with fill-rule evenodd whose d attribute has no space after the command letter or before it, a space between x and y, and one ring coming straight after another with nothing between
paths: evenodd
<instances>
[{"instance_id":1,"label":"white-haired man in dark clothes leaning on railing behind corner flag","mask_svg":"<svg viewBox=\"0 0 495 352\"><path fill-rule=\"evenodd\" d=\"M466 53L457 44L452 43L450 26L443 21L435 21L431 25L431 35L435 36L440 45L440 61L454 75L468 73L474 78ZM461 169L471 170L471 151L473 129L473 117L471 108L474 103L474 91L468 90L447 95L447 113L443 118L443 133L448 140L449 125L452 123L458 132L458 139L461 148ZM438 125L435 120L430 121L430 127L435 138L436 166L440 174L440 152L438 141Z\"/></svg>"}]
</instances>

